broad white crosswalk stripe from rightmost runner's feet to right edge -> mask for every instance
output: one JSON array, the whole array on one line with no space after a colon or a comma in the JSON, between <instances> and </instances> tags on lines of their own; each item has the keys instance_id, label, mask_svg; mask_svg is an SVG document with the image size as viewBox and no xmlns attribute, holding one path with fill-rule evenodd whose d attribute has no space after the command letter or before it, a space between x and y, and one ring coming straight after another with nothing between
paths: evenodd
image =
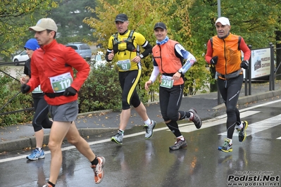
<instances>
[{"instance_id":1,"label":"broad white crosswalk stripe from rightmost runner's feet to right edge","mask_svg":"<svg viewBox=\"0 0 281 187\"><path fill-rule=\"evenodd\" d=\"M281 124L281 115L277 115L275 117L270 117L266 120L262 120L259 122L255 122L253 124L249 124L248 128L246 129L246 136L256 134L260 131L265 131L266 129L270 129L270 128L275 127L280 124ZM225 131L218 135L226 136L227 132ZM238 134L233 134L233 136L238 136Z\"/></svg>"}]
</instances>

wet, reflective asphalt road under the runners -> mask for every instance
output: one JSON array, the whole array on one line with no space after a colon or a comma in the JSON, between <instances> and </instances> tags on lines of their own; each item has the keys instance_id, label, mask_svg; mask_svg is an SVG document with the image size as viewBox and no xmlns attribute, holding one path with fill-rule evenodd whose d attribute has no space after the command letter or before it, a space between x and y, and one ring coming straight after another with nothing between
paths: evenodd
<instances>
[{"instance_id":1,"label":"wet, reflective asphalt road under the runners","mask_svg":"<svg viewBox=\"0 0 281 187\"><path fill-rule=\"evenodd\" d=\"M99 185L85 157L65 144L56 186L280 186L280 102L240 110L242 120L249 122L248 136L243 143L237 134L233 136L232 153L217 150L225 138L224 115L204 121L199 130L182 121L180 129L188 146L176 151L168 149L175 138L161 123L150 140L144 139L142 127L128 129L123 146L110 141L113 133L91 137L87 141L94 153L106 157L105 176ZM49 177L49 151L45 159L35 162L27 162L27 153L0 156L0 186L44 184Z\"/></svg>"}]
</instances>

